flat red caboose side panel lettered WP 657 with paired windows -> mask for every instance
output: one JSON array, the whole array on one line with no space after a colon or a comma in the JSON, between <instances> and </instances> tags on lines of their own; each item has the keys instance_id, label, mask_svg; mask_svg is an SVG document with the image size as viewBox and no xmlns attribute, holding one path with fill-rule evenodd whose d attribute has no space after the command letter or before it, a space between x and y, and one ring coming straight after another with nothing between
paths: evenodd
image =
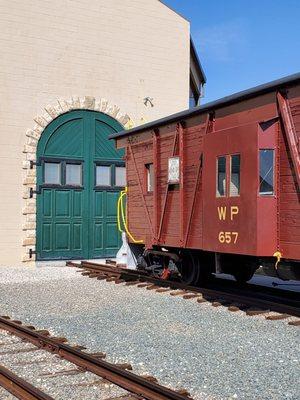
<instances>
[{"instance_id":1,"label":"flat red caboose side panel lettered WP 657 with paired windows","mask_svg":"<svg viewBox=\"0 0 300 400\"><path fill-rule=\"evenodd\" d=\"M257 124L204 138L203 249L255 254L257 242Z\"/></svg>"}]
</instances>

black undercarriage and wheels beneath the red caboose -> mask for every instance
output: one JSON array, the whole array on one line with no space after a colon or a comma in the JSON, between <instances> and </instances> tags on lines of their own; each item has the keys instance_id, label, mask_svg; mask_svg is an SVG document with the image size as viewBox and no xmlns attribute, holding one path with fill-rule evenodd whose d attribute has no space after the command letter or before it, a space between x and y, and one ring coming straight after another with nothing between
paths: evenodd
<instances>
[{"instance_id":1,"label":"black undercarriage and wheels beneath the red caboose","mask_svg":"<svg viewBox=\"0 0 300 400\"><path fill-rule=\"evenodd\" d=\"M264 275L282 280L300 280L300 263L293 260L259 258L238 254L219 254L192 250L153 248L130 244L137 260L137 269L161 279L180 280L188 285L202 286L215 274L229 274L244 284L260 269Z\"/></svg>"}]
</instances>

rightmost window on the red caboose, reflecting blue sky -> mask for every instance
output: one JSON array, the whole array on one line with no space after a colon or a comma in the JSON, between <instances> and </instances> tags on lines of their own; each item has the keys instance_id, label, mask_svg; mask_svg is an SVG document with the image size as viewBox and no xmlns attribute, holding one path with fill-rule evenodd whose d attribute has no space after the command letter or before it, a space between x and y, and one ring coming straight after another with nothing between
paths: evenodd
<instances>
[{"instance_id":1,"label":"rightmost window on the red caboose, reflecting blue sky","mask_svg":"<svg viewBox=\"0 0 300 400\"><path fill-rule=\"evenodd\" d=\"M259 150L259 194L274 194L274 150Z\"/></svg>"}]
</instances>

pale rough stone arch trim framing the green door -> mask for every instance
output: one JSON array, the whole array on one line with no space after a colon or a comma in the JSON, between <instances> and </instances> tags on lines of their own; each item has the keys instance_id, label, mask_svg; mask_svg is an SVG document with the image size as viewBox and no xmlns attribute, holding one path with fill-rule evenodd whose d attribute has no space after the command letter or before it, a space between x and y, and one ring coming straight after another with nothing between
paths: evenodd
<instances>
[{"instance_id":1,"label":"pale rough stone arch trim framing the green door","mask_svg":"<svg viewBox=\"0 0 300 400\"><path fill-rule=\"evenodd\" d=\"M122 114L120 108L112 105L106 99L96 100L95 97L85 96L74 97L69 100L57 100L56 104L45 107L45 113L34 118L35 125L26 132L26 143L23 153L23 209L22 209L22 230L23 230L23 257L26 263L34 262L36 250L36 152L38 141L50 122L59 115L71 110L92 110L99 111L116 119L124 128L131 124L127 114Z\"/></svg>"}]
</instances>

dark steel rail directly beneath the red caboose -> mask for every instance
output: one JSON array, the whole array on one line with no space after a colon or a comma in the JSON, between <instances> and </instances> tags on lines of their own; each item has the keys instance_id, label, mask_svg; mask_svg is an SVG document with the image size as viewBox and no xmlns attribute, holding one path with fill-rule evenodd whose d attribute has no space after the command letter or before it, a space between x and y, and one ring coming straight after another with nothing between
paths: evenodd
<instances>
[{"instance_id":1,"label":"dark steel rail directly beneath the red caboose","mask_svg":"<svg viewBox=\"0 0 300 400\"><path fill-rule=\"evenodd\" d=\"M187 292L194 292L198 294L202 294L203 296L207 296L209 298L222 298L223 300L230 301L232 303L239 303L243 304L245 306L256 306L256 307L262 307L265 309L268 309L270 311L282 313L282 314L289 314L295 317L300 317L300 307L298 306L293 306L293 305L288 305L288 304L282 304L280 303L281 299L270 299L271 296L269 296L269 300L265 300L262 298L258 298L257 292L254 293L254 296L247 296L243 294L236 294L236 293L228 293L225 291L221 290L215 290L215 289L208 289L208 288L198 288L194 286L187 286L184 283L181 282L175 282L175 281L168 281L168 280L162 280L160 278L155 278L152 276L149 276L145 273L142 273L137 270L129 270L126 268L119 268L119 267L112 267L107 264L97 264L93 262L87 262L87 261L82 261L81 264L77 264L74 262L68 262L67 265L69 266L75 266L79 267L82 269L88 269L91 270L95 273L101 274L111 274L116 275L119 274L122 277L129 277L131 280L136 280L136 281L141 281L141 282L149 282L153 283L158 286L163 286L163 287L170 287L171 289L181 289L181 290L186 290ZM298 304L298 303L297 303Z\"/></svg>"}]
</instances>

